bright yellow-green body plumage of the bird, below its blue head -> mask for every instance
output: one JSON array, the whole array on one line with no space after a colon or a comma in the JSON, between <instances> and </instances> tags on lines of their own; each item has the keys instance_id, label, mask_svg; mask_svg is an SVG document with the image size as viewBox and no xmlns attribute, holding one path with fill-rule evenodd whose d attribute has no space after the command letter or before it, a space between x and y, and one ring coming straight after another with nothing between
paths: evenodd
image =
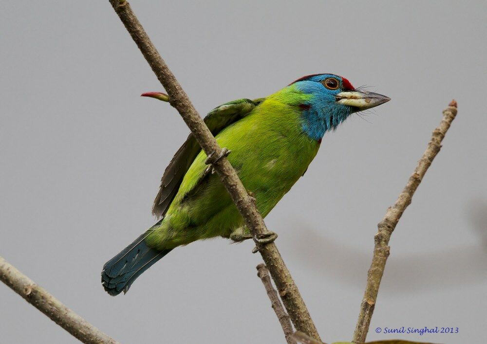
<instances>
[{"instance_id":1,"label":"bright yellow-green body plumage of the bird, below its blue head","mask_svg":"<svg viewBox=\"0 0 487 344\"><path fill-rule=\"evenodd\" d=\"M301 129L299 105L309 98L310 95L289 87L253 102L242 99L226 103L205 120L211 130L217 127L211 123L214 118L219 118L218 123L225 118L238 118L222 128L216 140L232 151L228 160L256 198L264 217L303 175L318 152L318 142ZM235 204L205 159L206 154L200 151L187 169L163 221L149 230L149 247L165 250L199 239L248 234ZM158 202L156 198L154 211Z\"/></svg>"}]
</instances>

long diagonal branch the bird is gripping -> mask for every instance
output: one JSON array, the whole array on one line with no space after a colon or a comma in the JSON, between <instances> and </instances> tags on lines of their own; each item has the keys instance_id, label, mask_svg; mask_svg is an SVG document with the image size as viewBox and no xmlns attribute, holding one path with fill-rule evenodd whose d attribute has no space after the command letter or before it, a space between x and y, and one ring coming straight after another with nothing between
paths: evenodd
<instances>
[{"instance_id":1,"label":"long diagonal branch the bird is gripping","mask_svg":"<svg viewBox=\"0 0 487 344\"><path fill-rule=\"evenodd\" d=\"M150 68L152 68L152 71L168 92L169 104L178 110L206 155L213 154L214 156L219 156L222 148L217 144L215 138L191 104L191 101L181 88L174 74L169 70L166 62L164 62L157 52L149 36L147 36L144 28L132 12L129 3L124 0L110 0L110 3L146 58ZM265 227L262 216L252 203L242 181L240 181L228 160L225 157L219 159L213 163L213 167L222 179L226 190L235 202L240 214L244 217L245 224L252 232L252 235L257 238L263 234L267 234L268 230ZM256 244L258 244L257 240ZM316 326L311 320L311 316L301 298L298 287L287 270L276 245L273 242L262 245L259 252L262 254L262 258L276 283L284 307L296 329L319 339Z\"/></svg>"}]
</instances>

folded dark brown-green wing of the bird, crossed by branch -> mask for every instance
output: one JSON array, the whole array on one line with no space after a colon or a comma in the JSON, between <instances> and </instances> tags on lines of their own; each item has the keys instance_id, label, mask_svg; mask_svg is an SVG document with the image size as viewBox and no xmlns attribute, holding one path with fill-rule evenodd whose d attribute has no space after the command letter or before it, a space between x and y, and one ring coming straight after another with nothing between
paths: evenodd
<instances>
[{"instance_id":1,"label":"folded dark brown-green wing of the bird, crossed by branch","mask_svg":"<svg viewBox=\"0 0 487 344\"><path fill-rule=\"evenodd\" d=\"M211 110L205 117L206 126L211 133L216 136L225 127L237 122L245 117L252 109L258 106L264 98L255 100L238 99L233 102L225 103ZM156 217L162 217L169 209L172 199L176 195L181 181L191 166L191 163L200 152L201 147L196 142L192 134L189 134L186 142L178 149L172 158L169 166L166 167L164 175L161 178L159 192L154 199L152 214Z\"/></svg>"}]
</instances>

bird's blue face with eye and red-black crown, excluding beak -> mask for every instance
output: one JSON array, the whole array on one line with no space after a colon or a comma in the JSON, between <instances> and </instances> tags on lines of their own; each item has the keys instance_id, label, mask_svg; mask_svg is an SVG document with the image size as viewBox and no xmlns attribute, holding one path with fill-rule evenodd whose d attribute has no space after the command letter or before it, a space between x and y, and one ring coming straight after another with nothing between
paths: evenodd
<instances>
[{"instance_id":1,"label":"bird's blue face with eye and red-black crown, excluding beak","mask_svg":"<svg viewBox=\"0 0 487 344\"><path fill-rule=\"evenodd\" d=\"M338 93L353 91L352 84L341 76L309 75L296 80L293 84L301 92L313 95L302 107L302 129L314 140L321 140L326 131L336 129L356 111L353 107L337 102Z\"/></svg>"}]
</instances>

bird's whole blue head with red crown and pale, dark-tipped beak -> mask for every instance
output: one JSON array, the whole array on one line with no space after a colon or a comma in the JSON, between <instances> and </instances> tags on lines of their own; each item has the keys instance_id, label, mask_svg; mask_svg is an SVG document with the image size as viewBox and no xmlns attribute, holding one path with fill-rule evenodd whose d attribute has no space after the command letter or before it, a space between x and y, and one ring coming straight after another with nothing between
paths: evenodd
<instances>
[{"instance_id":1,"label":"bird's whole blue head with red crown and pale, dark-tipped beak","mask_svg":"<svg viewBox=\"0 0 487 344\"><path fill-rule=\"evenodd\" d=\"M306 75L293 81L286 89L294 95L301 95L293 98L299 98L303 131L317 141L352 113L391 100L382 94L358 91L350 81L335 74Z\"/></svg>"}]
</instances>

